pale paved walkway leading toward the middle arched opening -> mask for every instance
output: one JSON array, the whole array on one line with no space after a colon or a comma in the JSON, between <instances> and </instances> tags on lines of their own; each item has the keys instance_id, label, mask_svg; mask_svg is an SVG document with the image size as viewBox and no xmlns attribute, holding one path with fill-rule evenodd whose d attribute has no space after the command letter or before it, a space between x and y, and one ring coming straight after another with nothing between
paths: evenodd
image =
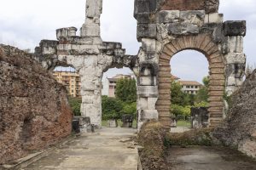
<instances>
[{"instance_id":1,"label":"pale paved walkway leading toward the middle arched opening","mask_svg":"<svg viewBox=\"0 0 256 170\"><path fill-rule=\"evenodd\" d=\"M24 170L137 170L136 130L107 128L84 133Z\"/></svg>"}]
</instances>

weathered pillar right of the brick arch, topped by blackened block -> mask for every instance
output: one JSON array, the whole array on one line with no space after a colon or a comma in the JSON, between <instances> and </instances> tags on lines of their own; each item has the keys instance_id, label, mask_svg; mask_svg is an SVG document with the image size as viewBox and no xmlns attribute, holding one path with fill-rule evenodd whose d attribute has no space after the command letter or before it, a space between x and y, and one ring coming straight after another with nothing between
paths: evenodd
<instances>
[{"instance_id":1,"label":"weathered pillar right of the brick arch, topped by blackened block","mask_svg":"<svg viewBox=\"0 0 256 170\"><path fill-rule=\"evenodd\" d=\"M245 21L224 22L224 58L226 59L226 93L233 94L241 87L245 75L246 55L243 53Z\"/></svg>"}]
</instances>

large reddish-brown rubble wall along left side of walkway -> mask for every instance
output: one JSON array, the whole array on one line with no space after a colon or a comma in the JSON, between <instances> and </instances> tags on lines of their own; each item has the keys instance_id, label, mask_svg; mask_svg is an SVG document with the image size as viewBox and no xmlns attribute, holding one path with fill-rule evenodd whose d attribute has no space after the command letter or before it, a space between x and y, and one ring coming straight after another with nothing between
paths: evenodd
<instances>
[{"instance_id":1,"label":"large reddish-brown rubble wall along left side of walkway","mask_svg":"<svg viewBox=\"0 0 256 170\"><path fill-rule=\"evenodd\" d=\"M0 164L66 137L72 118L66 89L31 54L0 45Z\"/></svg>"}]
</instances>

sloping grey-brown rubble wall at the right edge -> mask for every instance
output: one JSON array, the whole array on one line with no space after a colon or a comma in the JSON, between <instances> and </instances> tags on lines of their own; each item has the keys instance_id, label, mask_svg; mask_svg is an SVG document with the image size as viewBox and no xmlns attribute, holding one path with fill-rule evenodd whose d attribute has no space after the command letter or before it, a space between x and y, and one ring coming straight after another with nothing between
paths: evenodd
<instances>
[{"instance_id":1,"label":"sloping grey-brown rubble wall at the right edge","mask_svg":"<svg viewBox=\"0 0 256 170\"><path fill-rule=\"evenodd\" d=\"M256 157L256 70L232 96L229 115L214 136L224 144Z\"/></svg>"}]
</instances>

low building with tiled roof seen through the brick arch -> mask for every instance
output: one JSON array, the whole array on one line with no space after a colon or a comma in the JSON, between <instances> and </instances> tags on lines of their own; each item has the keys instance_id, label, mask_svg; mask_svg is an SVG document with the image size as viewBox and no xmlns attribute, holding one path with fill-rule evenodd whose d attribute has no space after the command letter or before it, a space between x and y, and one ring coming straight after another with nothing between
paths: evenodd
<instances>
[{"instance_id":1,"label":"low building with tiled roof seen through the brick arch","mask_svg":"<svg viewBox=\"0 0 256 170\"><path fill-rule=\"evenodd\" d=\"M195 81L178 81L182 86L182 91L185 94L197 94L202 84Z\"/></svg>"}]
</instances>

